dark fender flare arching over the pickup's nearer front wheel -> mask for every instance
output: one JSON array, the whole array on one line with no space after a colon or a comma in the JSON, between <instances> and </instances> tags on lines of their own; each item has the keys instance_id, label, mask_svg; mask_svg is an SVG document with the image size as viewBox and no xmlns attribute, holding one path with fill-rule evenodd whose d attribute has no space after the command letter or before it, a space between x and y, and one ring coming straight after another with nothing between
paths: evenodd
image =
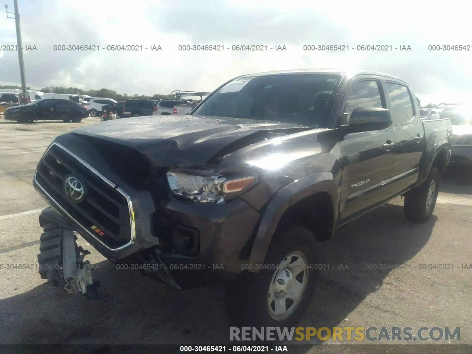
<instances>
[{"instance_id":1,"label":"dark fender flare arching over the pickup's nearer front wheel","mask_svg":"<svg viewBox=\"0 0 472 354\"><path fill-rule=\"evenodd\" d=\"M318 172L310 176L300 178L284 188L280 189L270 200L262 215L261 223L257 230L251 254L249 257L249 271L258 273L255 264L262 264L269 249L270 241L277 229L282 215L305 197L317 192L328 192L333 204L333 231L337 215L337 185L334 176L329 171Z\"/></svg>"}]
</instances>

